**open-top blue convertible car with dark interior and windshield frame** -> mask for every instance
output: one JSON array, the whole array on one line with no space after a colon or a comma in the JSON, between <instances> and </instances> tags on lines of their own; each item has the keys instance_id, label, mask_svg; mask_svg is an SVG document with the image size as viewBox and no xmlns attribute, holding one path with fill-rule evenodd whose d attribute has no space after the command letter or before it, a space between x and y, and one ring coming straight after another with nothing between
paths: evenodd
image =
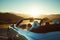
<instances>
[{"instance_id":1,"label":"open-top blue convertible car with dark interior and windshield frame","mask_svg":"<svg viewBox=\"0 0 60 40\"><path fill-rule=\"evenodd\" d=\"M9 25L8 29L0 29L0 40L60 40L60 24L38 25L32 28L34 20L40 22L41 19L25 18Z\"/></svg>"}]
</instances>

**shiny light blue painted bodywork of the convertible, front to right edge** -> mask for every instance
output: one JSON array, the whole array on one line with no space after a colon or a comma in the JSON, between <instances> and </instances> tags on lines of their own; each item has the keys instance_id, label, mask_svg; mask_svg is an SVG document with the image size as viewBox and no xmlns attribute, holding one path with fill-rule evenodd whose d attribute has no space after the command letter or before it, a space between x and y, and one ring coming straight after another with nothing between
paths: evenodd
<instances>
[{"instance_id":1,"label":"shiny light blue painted bodywork of the convertible, front to right edge","mask_svg":"<svg viewBox=\"0 0 60 40\"><path fill-rule=\"evenodd\" d=\"M12 29L17 31L20 35L25 36L28 40L60 40L60 32L34 33L24 31L17 27Z\"/></svg>"}]
</instances>

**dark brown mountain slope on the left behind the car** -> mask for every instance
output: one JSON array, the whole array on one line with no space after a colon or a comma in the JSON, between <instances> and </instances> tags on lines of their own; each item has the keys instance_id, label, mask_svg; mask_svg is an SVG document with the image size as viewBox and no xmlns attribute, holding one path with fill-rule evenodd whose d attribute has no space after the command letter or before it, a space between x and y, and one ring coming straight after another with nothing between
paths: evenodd
<instances>
[{"instance_id":1,"label":"dark brown mountain slope on the left behind the car","mask_svg":"<svg viewBox=\"0 0 60 40\"><path fill-rule=\"evenodd\" d=\"M19 19L21 19L23 17L21 16L17 16L15 14L12 13L2 13L0 12L0 24L2 23L16 23Z\"/></svg>"}]
</instances>

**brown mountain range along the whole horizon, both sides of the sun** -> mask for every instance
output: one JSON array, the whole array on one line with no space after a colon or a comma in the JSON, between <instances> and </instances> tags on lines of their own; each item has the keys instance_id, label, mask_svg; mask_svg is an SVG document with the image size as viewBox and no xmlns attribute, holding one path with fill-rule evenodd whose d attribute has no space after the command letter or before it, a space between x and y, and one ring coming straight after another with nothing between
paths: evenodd
<instances>
[{"instance_id":1,"label":"brown mountain range along the whole horizon, both sides of the sun","mask_svg":"<svg viewBox=\"0 0 60 40\"><path fill-rule=\"evenodd\" d=\"M34 15L33 15L34 16ZM31 15L29 14L18 14L18 13L10 13L10 12L0 12L0 24L2 23L16 23L21 18L29 18ZM44 18L47 17L49 19L57 19L60 22L60 14L51 14L51 15L38 15L36 18Z\"/></svg>"}]
</instances>

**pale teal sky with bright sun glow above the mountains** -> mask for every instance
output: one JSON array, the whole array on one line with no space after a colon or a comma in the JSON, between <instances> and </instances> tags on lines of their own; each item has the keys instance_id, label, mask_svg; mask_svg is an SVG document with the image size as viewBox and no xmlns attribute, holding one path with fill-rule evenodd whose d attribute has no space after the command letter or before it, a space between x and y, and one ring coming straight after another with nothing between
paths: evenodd
<instances>
[{"instance_id":1,"label":"pale teal sky with bright sun glow above the mountains","mask_svg":"<svg viewBox=\"0 0 60 40\"><path fill-rule=\"evenodd\" d=\"M0 12L60 14L60 0L0 0Z\"/></svg>"}]
</instances>

